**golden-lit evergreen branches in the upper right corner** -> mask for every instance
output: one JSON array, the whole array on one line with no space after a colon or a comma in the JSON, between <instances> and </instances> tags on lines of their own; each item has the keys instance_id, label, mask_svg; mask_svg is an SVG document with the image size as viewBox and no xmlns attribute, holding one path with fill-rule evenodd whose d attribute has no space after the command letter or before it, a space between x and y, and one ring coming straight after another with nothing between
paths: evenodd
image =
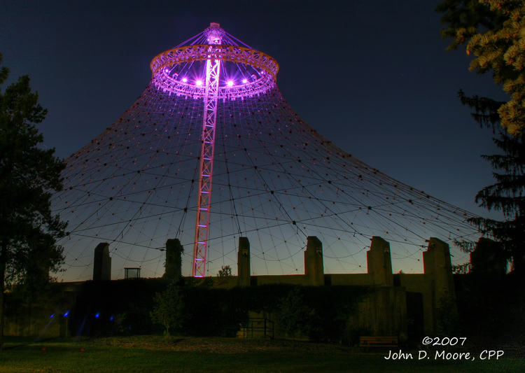
<instances>
[{"instance_id":1,"label":"golden-lit evergreen branches in the upper right corner","mask_svg":"<svg viewBox=\"0 0 525 373\"><path fill-rule=\"evenodd\" d=\"M466 52L475 58L470 71L491 71L496 84L510 94L498 108L500 123L512 135L525 129L525 1L444 0L437 6L444 13L444 37L454 41L448 49L466 43Z\"/></svg>"}]
</instances>

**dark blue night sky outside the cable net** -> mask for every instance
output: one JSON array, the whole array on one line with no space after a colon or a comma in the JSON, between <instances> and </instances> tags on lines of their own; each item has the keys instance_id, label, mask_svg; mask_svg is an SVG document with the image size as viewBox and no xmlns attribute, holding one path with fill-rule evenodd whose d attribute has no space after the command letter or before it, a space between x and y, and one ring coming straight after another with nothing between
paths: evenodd
<instances>
[{"instance_id":1,"label":"dark blue night sky outside the cable net","mask_svg":"<svg viewBox=\"0 0 525 373\"><path fill-rule=\"evenodd\" d=\"M277 83L305 122L370 166L463 209L496 152L456 92L506 99L445 52L438 1L2 1L10 80L31 77L45 146L68 157L139 97L149 64L218 22L279 62ZM496 216L496 215L493 215Z\"/></svg>"}]
</instances>

